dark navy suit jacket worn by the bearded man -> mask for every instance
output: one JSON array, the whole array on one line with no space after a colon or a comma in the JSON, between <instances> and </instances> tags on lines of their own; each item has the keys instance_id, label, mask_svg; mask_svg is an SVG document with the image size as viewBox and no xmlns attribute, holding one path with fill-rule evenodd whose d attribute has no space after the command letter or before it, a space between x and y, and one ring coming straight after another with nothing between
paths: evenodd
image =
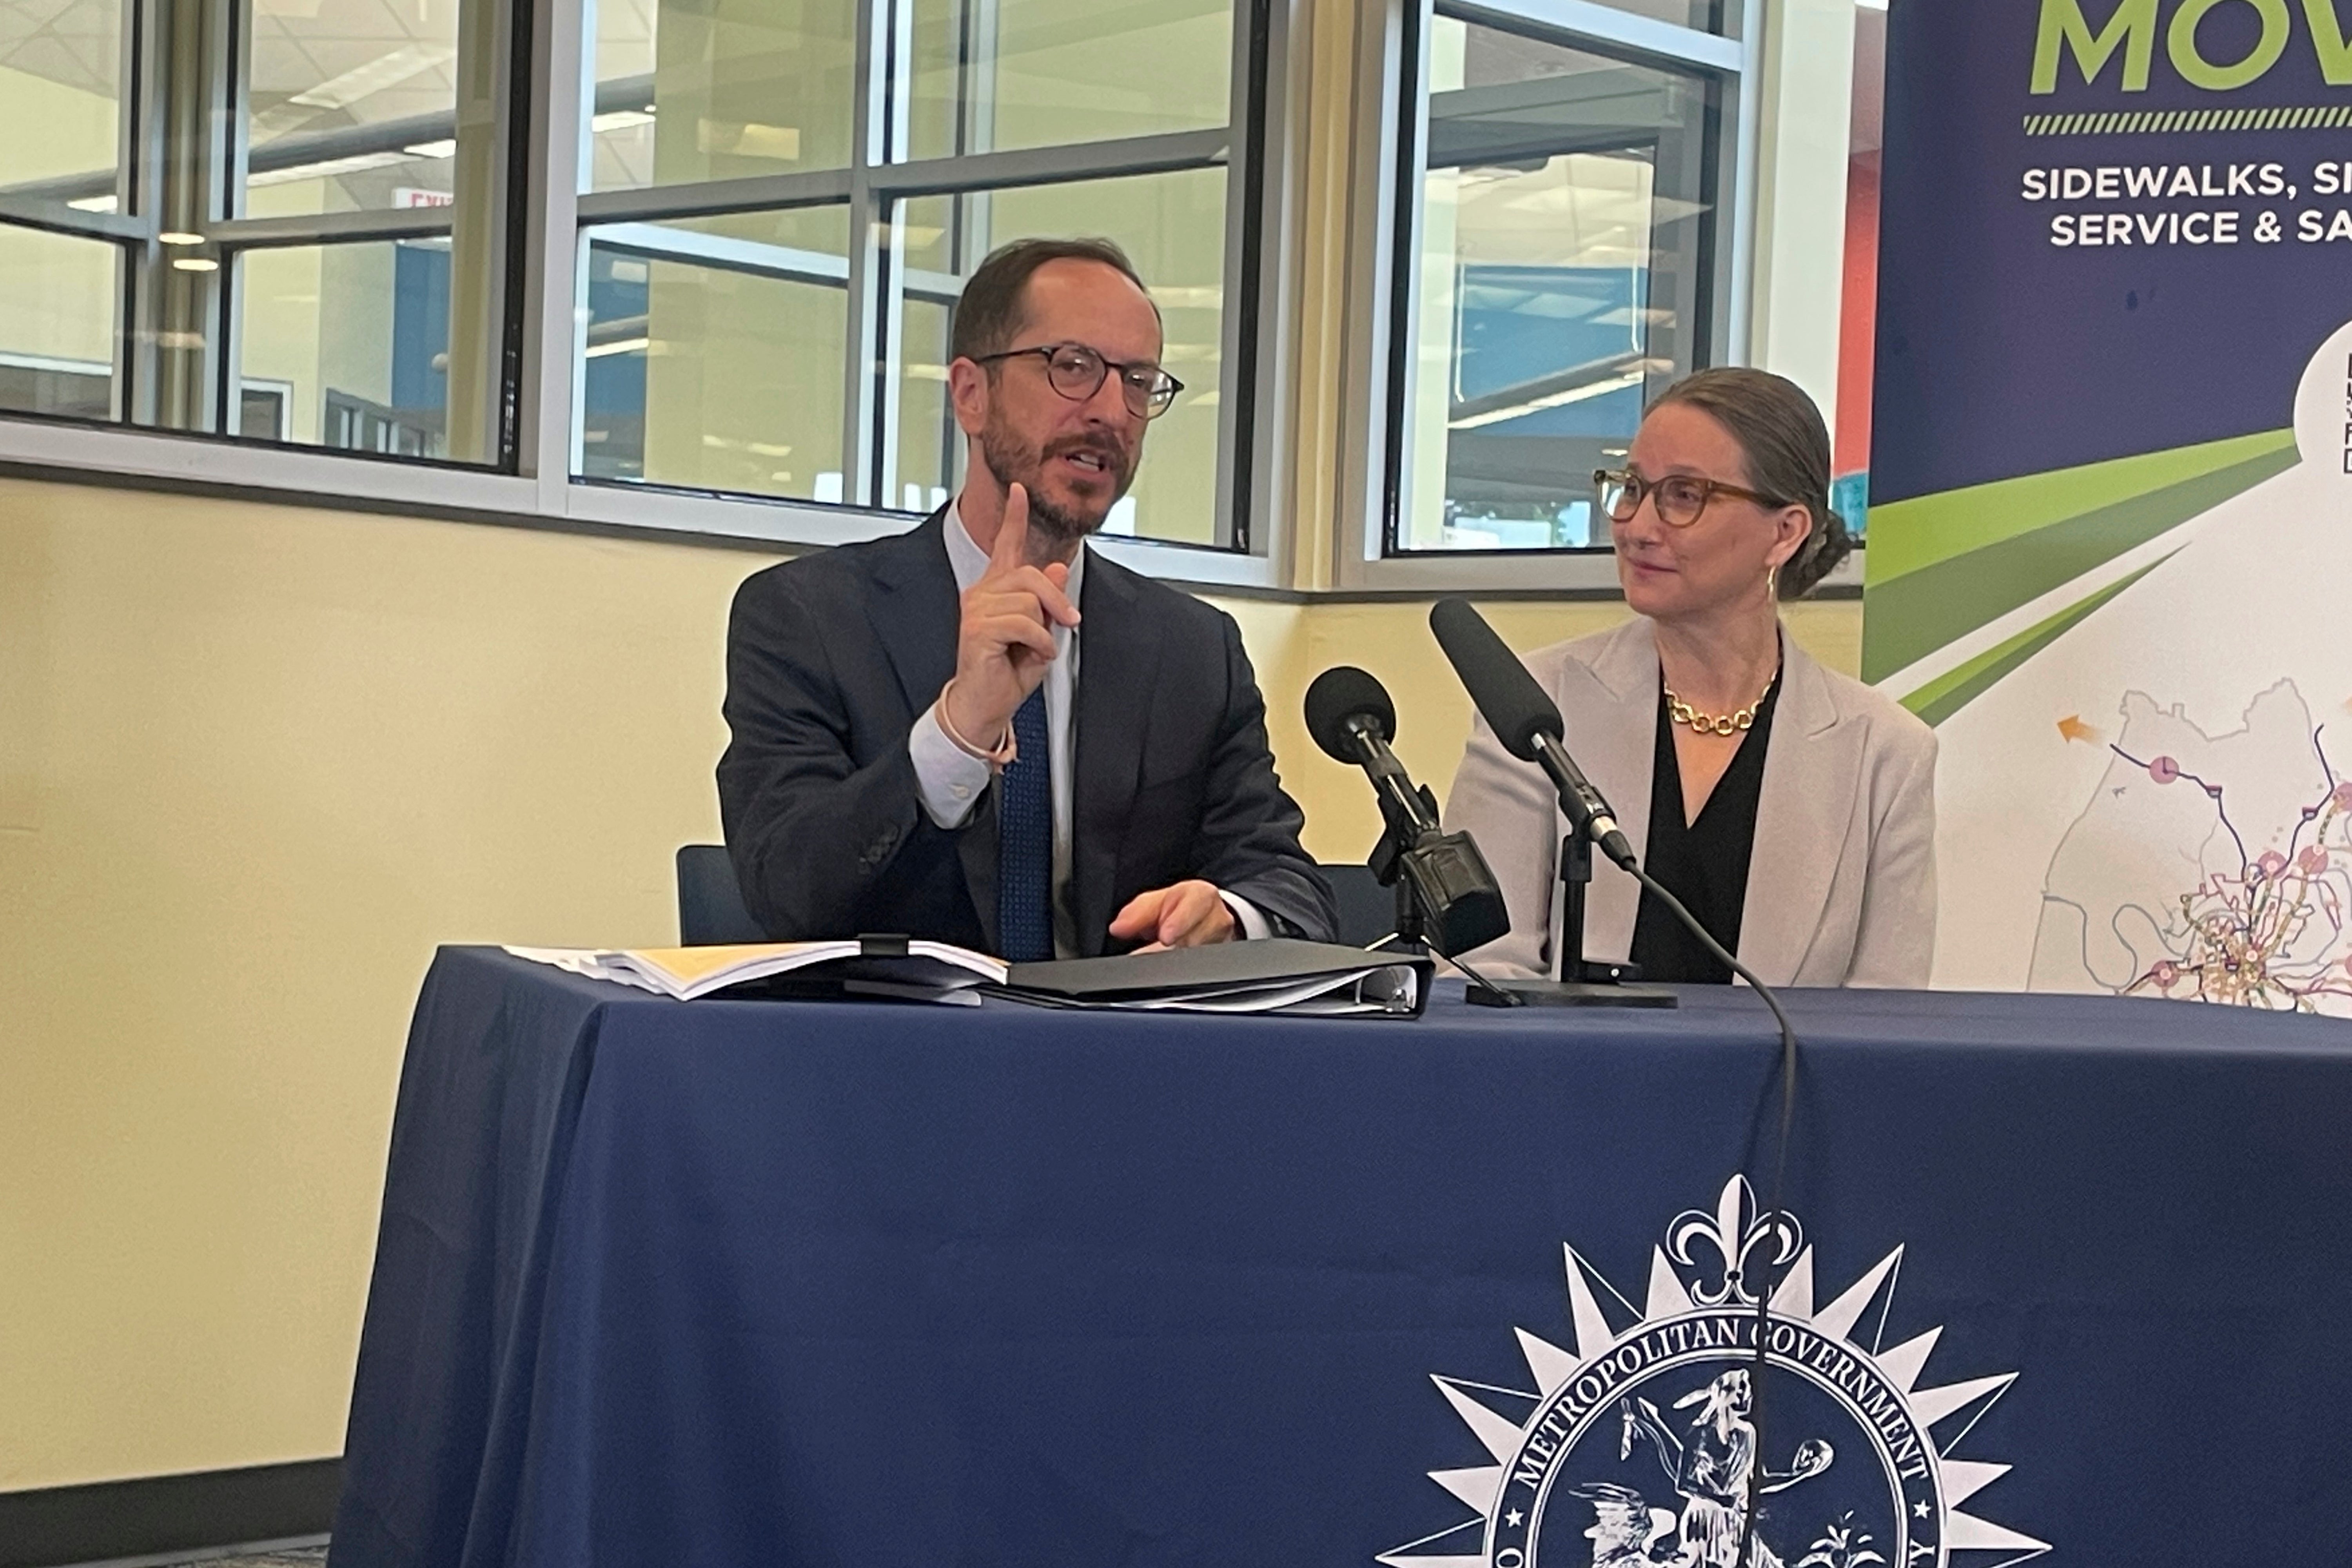
<instances>
[{"instance_id":1,"label":"dark navy suit jacket worn by the bearded man","mask_svg":"<svg viewBox=\"0 0 2352 1568\"><path fill-rule=\"evenodd\" d=\"M776 938L889 931L997 950L997 792L931 823L908 733L955 675L943 512L750 576L727 630L720 816L743 903ZM1232 616L1087 559L1073 790L1084 954L1136 893L1204 877L1279 926L1334 933L1331 889L1265 745Z\"/></svg>"}]
</instances>

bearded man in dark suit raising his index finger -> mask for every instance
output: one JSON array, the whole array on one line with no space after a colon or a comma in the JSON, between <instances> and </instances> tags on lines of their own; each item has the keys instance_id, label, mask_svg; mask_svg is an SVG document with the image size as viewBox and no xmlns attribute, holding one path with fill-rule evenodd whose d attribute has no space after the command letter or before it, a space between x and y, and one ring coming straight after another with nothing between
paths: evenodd
<instances>
[{"instance_id":1,"label":"bearded man in dark suit raising his index finger","mask_svg":"<svg viewBox=\"0 0 2352 1568\"><path fill-rule=\"evenodd\" d=\"M779 938L1016 961L1329 938L1232 618L1084 548L1181 390L1143 282L1110 242L1021 240L950 343L955 501L736 592L717 783L743 903Z\"/></svg>"}]
</instances>

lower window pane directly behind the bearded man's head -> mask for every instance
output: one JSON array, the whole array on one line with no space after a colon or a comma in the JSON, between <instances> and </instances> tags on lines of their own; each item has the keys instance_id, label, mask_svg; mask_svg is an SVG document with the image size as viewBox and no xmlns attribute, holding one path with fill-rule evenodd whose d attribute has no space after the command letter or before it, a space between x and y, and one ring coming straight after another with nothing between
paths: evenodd
<instances>
[{"instance_id":1,"label":"lower window pane directly behind the bearded man's head","mask_svg":"<svg viewBox=\"0 0 2352 1568\"><path fill-rule=\"evenodd\" d=\"M1103 235L1136 263L1160 303L1176 404L1150 423L1136 487L1108 534L1221 543L1216 437L1225 327L1225 172L1188 169L1129 179L1030 186L983 195L934 195L898 205L896 242L910 299L898 310L901 440L896 496L953 489L962 440L946 414L946 310L924 292L953 289L995 244L1025 235ZM931 414L936 409L936 414ZM936 418L936 444L924 430Z\"/></svg>"}]
</instances>

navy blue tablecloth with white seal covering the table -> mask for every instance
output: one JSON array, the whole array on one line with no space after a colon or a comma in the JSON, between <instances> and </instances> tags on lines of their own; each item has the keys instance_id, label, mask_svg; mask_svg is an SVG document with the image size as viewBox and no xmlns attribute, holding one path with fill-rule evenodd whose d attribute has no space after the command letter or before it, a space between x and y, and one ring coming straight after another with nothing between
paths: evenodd
<instances>
[{"instance_id":1,"label":"navy blue tablecloth with white seal covering the table","mask_svg":"<svg viewBox=\"0 0 2352 1568\"><path fill-rule=\"evenodd\" d=\"M445 950L332 1563L1729 1563L1757 1448L1790 1566L2345 1552L2352 1027L1790 1011L1769 1232L1752 994L673 1004Z\"/></svg>"}]
</instances>

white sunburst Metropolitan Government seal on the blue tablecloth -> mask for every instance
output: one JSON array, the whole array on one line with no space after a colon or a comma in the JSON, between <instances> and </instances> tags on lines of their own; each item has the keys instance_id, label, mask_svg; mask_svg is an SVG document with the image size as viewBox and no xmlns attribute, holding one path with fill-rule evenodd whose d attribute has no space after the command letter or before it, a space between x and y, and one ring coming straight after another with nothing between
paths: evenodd
<instances>
[{"instance_id":1,"label":"white sunburst Metropolitan Government seal on the blue tablecloth","mask_svg":"<svg viewBox=\"0 0 2352 1568\"><path fill-rule=\"evenodd\" d=\"M1576 1349L1522 1328L1534 1389L1435 1378L1489 1462L1430 1472L1475 1519L1388 1568L2006 1568L2051 1549L1969 1512L2009 1465L1950 1453L2013 1373L1924 1385L1943 1331L1884 1342L1900 1246L1816 1305L1802 1225L1733 1175L1712 1213L1668 1225L1639 1309L1564 1255Z\"/></svg>"}]
</instances>

